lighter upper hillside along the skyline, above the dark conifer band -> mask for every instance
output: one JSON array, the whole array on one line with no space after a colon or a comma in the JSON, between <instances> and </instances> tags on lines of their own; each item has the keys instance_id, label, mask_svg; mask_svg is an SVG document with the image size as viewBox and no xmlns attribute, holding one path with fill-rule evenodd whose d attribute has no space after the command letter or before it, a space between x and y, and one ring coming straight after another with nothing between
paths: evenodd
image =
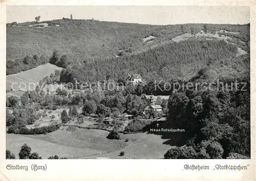
<instances>
[{"instance_id":1,"label":"lighter upper hillside along the skyline, above the dark conifer band","mask_svg":"<svg viewBox=\"0 0 256 181\"><path fill-rule=\"evenodd\" d=\"M153 49L159 52L159 49L172 48L164 47L173 38L183 33L198 33L204 29L203 24L158 26L67 18L40 23L46 23L47 27L29 27L37 24L35 21L7 24L7 75L49 62L54 50L60 56L66 55L70 66L88 66L91 62L116 61L116 58L121 57L139 58L144 56L141 55L144 52L154 52ZM226 36L234 36L244 43L249 41L248 25L205 26L208 32L225 30L222 34ZM150 36L154 39L145 39ZM147 58L147 55L144 57Z\"/></svg>"}]
</instances>

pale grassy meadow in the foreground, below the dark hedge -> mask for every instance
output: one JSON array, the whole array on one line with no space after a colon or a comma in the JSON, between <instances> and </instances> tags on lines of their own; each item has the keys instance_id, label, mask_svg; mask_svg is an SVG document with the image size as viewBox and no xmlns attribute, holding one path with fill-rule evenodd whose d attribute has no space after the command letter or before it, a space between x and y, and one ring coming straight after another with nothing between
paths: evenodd
<instances>
[{"instance_id":1,"label":"pale grassy meadow in the foreground, below the dark hedge","mask_svg":"<svg viewBox=\"0 0 256 181\"><path fill-rule=\"evenodd\" d=\"M7 134L6 147L17 156L20 147L27 143L32 152L44 159L51 155L77 159L162 159L170 148L160 135L135 133L120 134L121 140L109 140L108 131L78 128L66 131L67 127L46 135ZM128 138L129 142L125 142ZM124 156L119 156L124 151Z\"/></svg>"}]
</instances>

